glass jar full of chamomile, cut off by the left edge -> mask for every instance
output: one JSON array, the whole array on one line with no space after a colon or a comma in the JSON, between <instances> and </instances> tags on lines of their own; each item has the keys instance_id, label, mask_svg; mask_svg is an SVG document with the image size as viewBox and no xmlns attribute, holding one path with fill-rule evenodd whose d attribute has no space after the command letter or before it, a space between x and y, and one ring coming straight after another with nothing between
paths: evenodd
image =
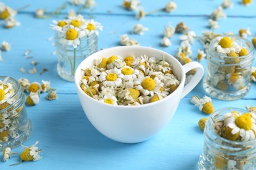
<instances>
[{"instance_id":1,"label":"glass jar full of chamomile, cut off by the left edge","mask_svg":"<svg viewBox=\"0 0 256 170\"><path fill-rule=\"evenodd\" d=\"M7 76L0 76L0 88L5 90L8 84L12 96L0 101L0 150L15 148L24 143L32 133L31 120L27 116L25 94L20 84ZM7 95L7 94L5 94Z\"/></svg>"}]
</instances>

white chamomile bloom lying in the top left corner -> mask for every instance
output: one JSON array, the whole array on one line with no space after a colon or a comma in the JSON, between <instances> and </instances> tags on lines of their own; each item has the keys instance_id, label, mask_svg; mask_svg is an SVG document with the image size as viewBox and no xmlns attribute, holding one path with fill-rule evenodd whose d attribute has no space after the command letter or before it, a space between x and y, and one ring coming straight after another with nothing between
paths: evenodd
<instances>
[{"instance_id":1,"label":"white chamomile bloom lying in the top left corner","mask_svg":"<svg viewBox=\"0 0 256 170\"><path fill-rule=\"evenodd\" d=\"M7 7L4 3L0 2L0 19L5 20L5 27L11 28L20 25L20 22L15 20L17 11Z\"/></svg>"}]
</instances>

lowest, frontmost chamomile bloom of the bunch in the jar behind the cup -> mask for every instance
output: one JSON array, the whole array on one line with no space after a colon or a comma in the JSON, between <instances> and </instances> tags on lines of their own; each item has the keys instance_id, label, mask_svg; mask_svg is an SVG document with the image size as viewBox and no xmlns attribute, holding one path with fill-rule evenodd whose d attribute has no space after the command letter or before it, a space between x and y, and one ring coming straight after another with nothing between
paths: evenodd
<instances>
[{"instance_id":1,"label":"lowest, frontmost chamomile bloom of the bunch in the jar behind the cup","mask_svg":"<svg viewBox=\"0 0 256 170\"><path fill-rule=\"evenodd\" d=\"M69 27L65 27L64 31L62 32L60 44L77 48L77 46L80 44L79 39L85 37L85 35L85 31L79 30L79 28L74 27L74 25L69 25Z\"/></svg>"}]
</instances>

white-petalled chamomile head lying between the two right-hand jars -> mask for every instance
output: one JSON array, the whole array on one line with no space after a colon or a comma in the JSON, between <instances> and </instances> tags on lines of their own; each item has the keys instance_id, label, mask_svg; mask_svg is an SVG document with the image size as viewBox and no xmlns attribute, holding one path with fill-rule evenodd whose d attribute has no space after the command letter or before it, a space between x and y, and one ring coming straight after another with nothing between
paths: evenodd
<instances>
[{"instance_id":1,"label":"white-petalled chamomile head lying between the two right-hand jars","mask_svg":"<svg viewBox=\"0 0 256 170\"><path fill-rule=\"evenodd\" d=\"M206 95L203 96L202 99L197 95L194 95L191 100L191 103L199 107L200 111L205 112L207 114L211 114L214 112L213 104L211 103L211 98Z\"/></svg>"}]
</instances>

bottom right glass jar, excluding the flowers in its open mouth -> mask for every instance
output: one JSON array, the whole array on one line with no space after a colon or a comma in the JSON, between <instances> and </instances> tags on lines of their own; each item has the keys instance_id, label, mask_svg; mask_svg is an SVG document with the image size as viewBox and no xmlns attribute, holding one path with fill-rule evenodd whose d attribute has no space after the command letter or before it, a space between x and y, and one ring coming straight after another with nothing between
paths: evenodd
<instances>
[{"instance_id":1,"label":"bottom right glass jar, excluding the flowers in its open mouth","mask_svg":"<svg viewBox=\"0 0 256 170\"><path fill-rule=\"evenodd\" d=\"M198 161L198 169L246 169L256 168L256 139L253 141L230 141L219 136L213 125L221 120L223 114L236 111L241 114L247 110L224 108L217 110L207 120L204 135L203 153Z\"/></svg>"}]
</instances>

